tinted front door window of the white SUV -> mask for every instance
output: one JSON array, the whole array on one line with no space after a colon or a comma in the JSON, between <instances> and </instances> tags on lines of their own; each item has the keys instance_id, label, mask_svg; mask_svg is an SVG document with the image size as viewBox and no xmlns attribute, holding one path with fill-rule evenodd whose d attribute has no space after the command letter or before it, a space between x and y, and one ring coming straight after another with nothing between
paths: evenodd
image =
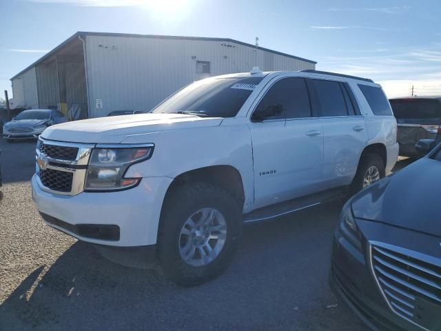
<instances>
[{"instance_id":1,"label":"tinted front door window of the white SUV","mask_svg":"<svg viewBox=\"0 0 441 331\"><path fill-rule=\"evenodd\" d=\"M270 119L311 117L311 105L305 79L285 78L274 83L254 111L254 114L271 113L274 116L268 117Z\"/></svg>"}]
</instances>

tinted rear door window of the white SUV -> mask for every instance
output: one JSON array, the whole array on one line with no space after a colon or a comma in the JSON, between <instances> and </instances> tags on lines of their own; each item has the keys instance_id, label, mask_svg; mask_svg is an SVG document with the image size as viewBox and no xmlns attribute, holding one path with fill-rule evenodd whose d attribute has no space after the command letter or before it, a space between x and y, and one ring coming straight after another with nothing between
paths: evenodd
<instances>
[{"instance_id":1,"label":"tinted rear door window of the white SUV","mask_svg":"<svg viewBox=\"0 0 441 331\"><path fill-rule=\"evenodd\" d=\"M320 116L347 116L345 97L338 81L313 79Z\"/></svg>"}]
</instances>

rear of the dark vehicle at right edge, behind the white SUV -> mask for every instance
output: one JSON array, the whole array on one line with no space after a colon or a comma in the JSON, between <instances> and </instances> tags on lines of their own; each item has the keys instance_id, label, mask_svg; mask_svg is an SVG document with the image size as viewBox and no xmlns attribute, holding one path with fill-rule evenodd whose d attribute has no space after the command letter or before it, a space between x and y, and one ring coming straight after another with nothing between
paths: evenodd
<instances>
[{"instance_id":1,"label":"rear of the dark vehicle at right edge, behind the white SUV","mask_svg":"<svg viewBox=\"0 0 441 331\"><path fill-rule=\"evenodd\" d=\"M390 100L397 119L400 154L418 154L415 144L420 139L436 139L441 124L440 99L403 98Z\"/></svg>"}]
</instances>

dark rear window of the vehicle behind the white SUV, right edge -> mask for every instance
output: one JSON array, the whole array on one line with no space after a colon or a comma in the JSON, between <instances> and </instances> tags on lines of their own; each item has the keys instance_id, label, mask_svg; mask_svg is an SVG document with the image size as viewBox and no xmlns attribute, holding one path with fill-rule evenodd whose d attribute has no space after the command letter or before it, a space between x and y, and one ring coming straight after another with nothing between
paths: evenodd
<instances>
[{"instance_id":1,"label":"dark rear window of the vehicle behind the white SUV, right edge","mask_svg":"<svg viewBox=\"0 0 441 331\"><path fill-rule=\"evenodd\" d=\"M441 117L441 103L433 99L392 99L397 119L434 119Z\"/></svg>"}]
</instances>

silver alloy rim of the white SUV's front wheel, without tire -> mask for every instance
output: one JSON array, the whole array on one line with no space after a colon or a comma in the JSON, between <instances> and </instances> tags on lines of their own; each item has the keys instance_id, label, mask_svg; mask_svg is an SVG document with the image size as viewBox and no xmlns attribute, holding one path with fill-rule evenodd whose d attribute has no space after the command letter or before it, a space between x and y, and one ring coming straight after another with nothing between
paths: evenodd
<instances>
[{"instance_id":1,"label":"silver alloy rim of the white SUV's front wheel, without tire","mask_svg":"<svg viewBox=\"0 0 441 331\"><path fill-rule=\"evenodd\" d=\"M203 208L185 221L179 234L179 254L194 267L207 265L218 257L226 239L223 214L214 208Z\"/></svg>"}]
</instances>

